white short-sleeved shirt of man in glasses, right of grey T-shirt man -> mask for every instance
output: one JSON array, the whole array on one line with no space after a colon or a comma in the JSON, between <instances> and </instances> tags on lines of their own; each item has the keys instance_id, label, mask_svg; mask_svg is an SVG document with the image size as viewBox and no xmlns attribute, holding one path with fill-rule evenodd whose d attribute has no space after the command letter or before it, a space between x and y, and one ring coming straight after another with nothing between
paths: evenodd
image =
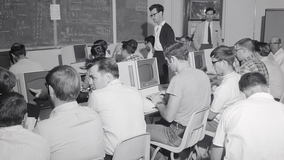
<instances>
[{"instance_id":1,"label":"white short-sleeved shirt of man in glasses, right of grey T-shirt man","mask_svg":"<svg viewBox=\"0 0 284 160\"><path fill-rule=\"evenodd\" d=\"M223 111L230 105L243 100L243 95L239 89L239 80L241 79L240 74L230 73L223 76L222 83L214 91L214 99L210 107L210 111L219 113L214 118L214 121L219 123Z\"/></svg>"}]
</instances>

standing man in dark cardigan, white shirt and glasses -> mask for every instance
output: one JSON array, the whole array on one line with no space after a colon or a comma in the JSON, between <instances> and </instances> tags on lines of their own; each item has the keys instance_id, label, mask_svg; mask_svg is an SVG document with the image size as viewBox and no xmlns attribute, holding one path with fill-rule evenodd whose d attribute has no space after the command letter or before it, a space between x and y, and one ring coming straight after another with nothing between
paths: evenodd
<instances>
[{"instance_id":1,"label":"standing man in dark cardigan, white shirt and glasses","mask_svg":"<svg viewBox=\"0 0 284 160\"><path fill-rule=\"evenodd\" d=\"M167 84L169 83L169 72L163 50L167 44L175 41L175 33L163 18L164 7L161 4L153 4L149 10L150 17L158 24L155 27L154 57L157 58L160 84Z\"/></svg>"}]
</instances>

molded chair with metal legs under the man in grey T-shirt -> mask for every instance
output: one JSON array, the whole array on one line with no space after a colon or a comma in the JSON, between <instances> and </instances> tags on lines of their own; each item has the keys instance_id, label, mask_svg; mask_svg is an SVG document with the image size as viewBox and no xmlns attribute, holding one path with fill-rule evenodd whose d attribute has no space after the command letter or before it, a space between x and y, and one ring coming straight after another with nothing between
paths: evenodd
<instances>
[{"instance_id":1,"label":"molded chair with metal legs under the man in grey T-shirt","mask_svg":"<svg viewBox=\"0 0 284 160\"><path fill-rule=\"evenodd\" d=\"M178 147L173 147L173 146L165 145L163 143L151 141L150 142L151 144L158 146L156 150L154 151L154 154L151 160L154 160L156 154L161 148L171 151L171 159L173 160L174 153L180 153L181 151L189 147L191 147L191 153L188 156L188 160L191 159L191 156L194 150L196 150L196 153L199 159L202 159L200 151L196 143L204 138L204 131L205 131L208 113L209 113L209 107L201 111L196 111L192 114L191 118L188 121L188 125L185 129L181 144Z\"/></svg>"}]
</instances>

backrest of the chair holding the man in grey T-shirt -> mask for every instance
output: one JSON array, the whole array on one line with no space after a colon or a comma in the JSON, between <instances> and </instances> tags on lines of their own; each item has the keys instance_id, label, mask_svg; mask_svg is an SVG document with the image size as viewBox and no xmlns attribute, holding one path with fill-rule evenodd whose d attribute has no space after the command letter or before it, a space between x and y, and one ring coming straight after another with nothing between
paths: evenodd
<instances>
[{"instance_id":1,"label":"backrest of the chair holding the man in grey T-shirt","mask_svg":"<svg viewBox=\"0 0 284 160\"><path fill-rule=\"evenodd\" d=\"M180 147L182 147L183 149L189 148L204 138L208 113L209 107L201 111L196 111L191 115L191 118L189 119L187 127L185 129Z\"/></svg>"}]
</instances>

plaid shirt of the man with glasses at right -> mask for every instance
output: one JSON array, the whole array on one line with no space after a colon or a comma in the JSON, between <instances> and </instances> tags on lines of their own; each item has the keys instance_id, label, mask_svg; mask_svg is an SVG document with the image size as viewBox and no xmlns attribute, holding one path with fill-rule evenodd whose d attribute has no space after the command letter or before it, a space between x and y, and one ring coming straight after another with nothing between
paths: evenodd
<instances>
[{"instance_id":1,"label":"plaid shirt of the man with glasses at right","mask_svg":"<svg viewBox=\"0 0 284 160\"><path fill-rule=\"evenodd\" d=\"M255 55L250 55L249 57L246 57L246 59L242 61L242 65L238 71L238 73L241 75L245 73L250 73L250 72L258 72L262 74L265 77L266 83L268 86L269 75L268 75L266 65L262 61L257 59Z\"/></svg>"}]
</instances>

